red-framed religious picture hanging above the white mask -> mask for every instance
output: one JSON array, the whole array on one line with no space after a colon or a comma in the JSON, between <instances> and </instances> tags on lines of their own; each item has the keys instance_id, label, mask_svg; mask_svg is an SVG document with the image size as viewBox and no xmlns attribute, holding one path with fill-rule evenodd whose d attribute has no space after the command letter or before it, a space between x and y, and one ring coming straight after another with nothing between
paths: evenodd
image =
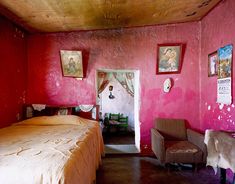
<instances>
[{"instance_id":1,"label":"red-framed religious picture hanging above the white mask","mask_svg":"<svg viewBox=\"0 0 235 184\"><path fill-rule=\"evenodd\" d=\"M158 44L157 74L180 73L183 44Z\"/></svg>"}]
</instances>

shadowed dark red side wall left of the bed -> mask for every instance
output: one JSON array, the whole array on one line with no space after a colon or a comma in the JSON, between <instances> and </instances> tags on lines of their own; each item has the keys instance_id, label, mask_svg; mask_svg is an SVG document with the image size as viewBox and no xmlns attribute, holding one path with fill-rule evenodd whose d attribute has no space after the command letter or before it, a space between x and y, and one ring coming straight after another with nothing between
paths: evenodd
<instances>
[{"instance_id":1,"label":"shadowed dark red side wall left of the bed","mask_svg":"<svg viewBox=\"0 0 235 184\"><path fill-rule=\"evenodd\" d=\"M1 128L22 116L26 96L27 56L25 33L1 16L0 40Z\"/></svg>"}]
</instances>

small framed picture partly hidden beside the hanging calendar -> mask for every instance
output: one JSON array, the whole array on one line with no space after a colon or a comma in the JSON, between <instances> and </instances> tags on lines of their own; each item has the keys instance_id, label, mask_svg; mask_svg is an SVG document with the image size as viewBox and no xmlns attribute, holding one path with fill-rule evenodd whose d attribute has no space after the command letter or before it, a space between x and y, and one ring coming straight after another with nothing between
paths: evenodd
<instances>
[{"instance_id":1,"label":"small framed picture partly hidden beside the hanging calendar","mask_svg":"<svg viewBox=\"0 0 235 184\"><path fill-rule=\"evenodd\" d=\"M216 76L218 74L218 53L217 51L208 55L208 77Z\"/></svg>"}]
</instances>

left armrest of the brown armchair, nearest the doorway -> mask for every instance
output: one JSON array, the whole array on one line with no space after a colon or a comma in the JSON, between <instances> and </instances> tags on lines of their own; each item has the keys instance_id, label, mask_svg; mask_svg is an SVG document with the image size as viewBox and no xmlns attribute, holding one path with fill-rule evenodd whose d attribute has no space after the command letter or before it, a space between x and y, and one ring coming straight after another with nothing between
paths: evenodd
<instances>
[{"instance_id":1,"label":"left armrest of the brown armchair, nearest the doorway","mask_svg":"<svg viewBox=\"0 0 235 184\"><path fill-rule=\"evenodd\" d=\"M165 144L164 137L159 131L151 129L151 145L152 150L161 163L165 162Z\"/></svg>"}]
</instances>

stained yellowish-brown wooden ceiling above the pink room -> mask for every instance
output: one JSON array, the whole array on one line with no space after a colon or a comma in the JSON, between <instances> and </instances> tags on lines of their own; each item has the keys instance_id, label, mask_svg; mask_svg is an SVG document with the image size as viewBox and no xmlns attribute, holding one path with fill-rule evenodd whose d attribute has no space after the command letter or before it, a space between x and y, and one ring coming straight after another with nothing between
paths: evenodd
<instances>
[{"instance_id":1,"label":"stained yellowish-brown wooden ceiling above the pink room","mask_svg":"<svg viewBox=\"0 0 235 184\"><path fill-rule=\"evenodd\" d=\"M200 20L221 0L0 0L30 32L113 29Z\"/></svg>"}]
</instances>

